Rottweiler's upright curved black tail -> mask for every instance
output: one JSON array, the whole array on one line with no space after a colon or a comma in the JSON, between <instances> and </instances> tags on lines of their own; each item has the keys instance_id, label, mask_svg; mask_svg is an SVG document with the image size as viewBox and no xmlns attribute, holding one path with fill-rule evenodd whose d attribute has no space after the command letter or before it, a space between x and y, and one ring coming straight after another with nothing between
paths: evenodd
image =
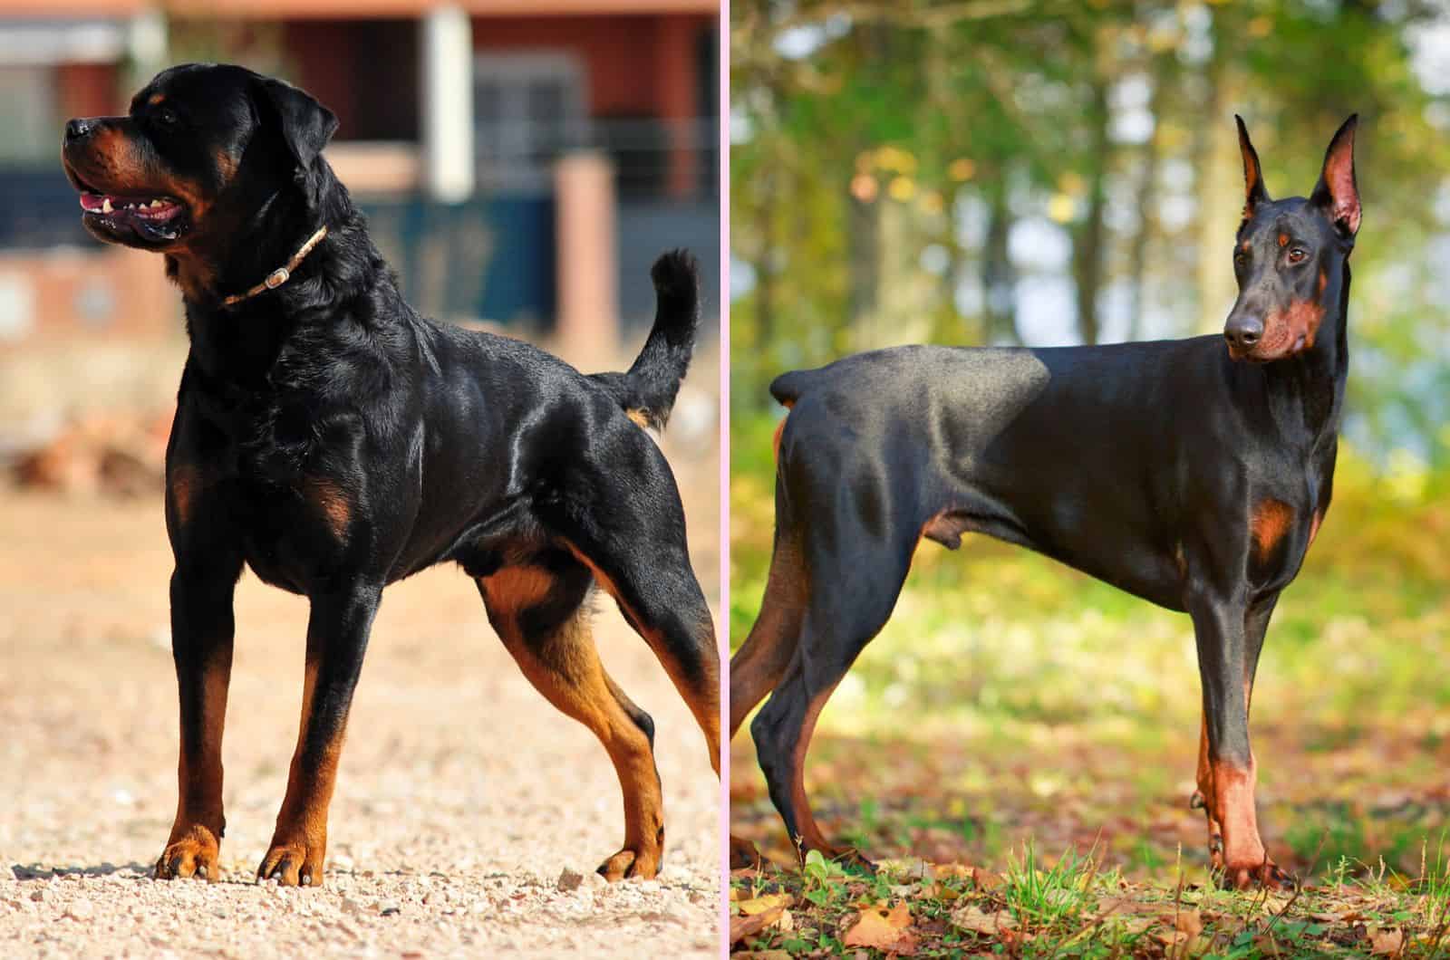
<instances>
[{"instance_id":1,"label":"Rottweiler's upright curved black tail","mask_svg":"<svg viewBox=\"0 0 1450 960\"><path fill-rule=\"evenodd\" d=\"M628 373L593 373L589 378L615 396L641 426L664 429L695 352L700 323L700 277L695 257L673 249L650 268L654 280L654 326Z\"/></svg>"}]
</instances>

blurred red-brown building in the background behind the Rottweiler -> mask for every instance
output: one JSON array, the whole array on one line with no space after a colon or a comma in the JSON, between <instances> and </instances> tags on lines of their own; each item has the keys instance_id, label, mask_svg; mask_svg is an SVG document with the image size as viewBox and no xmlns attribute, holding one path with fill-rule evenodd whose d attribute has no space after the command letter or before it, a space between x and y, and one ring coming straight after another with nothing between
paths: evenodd
<instances>
[{"instance_id":1,"label":"blurred red-brown building in the background behind the Rottweiler","mask_svg":"<svg viewBox=\"0 0 1450 960\"><path fill-rule=\"evenodd\" d=\"M174 332L161 264L84 233L58 148L186 61L338 115L326 155L425 313L613 335L667 247L713 303L718 49L715 0L0 0L0 348Z\"/></svg>"}]
</instances>

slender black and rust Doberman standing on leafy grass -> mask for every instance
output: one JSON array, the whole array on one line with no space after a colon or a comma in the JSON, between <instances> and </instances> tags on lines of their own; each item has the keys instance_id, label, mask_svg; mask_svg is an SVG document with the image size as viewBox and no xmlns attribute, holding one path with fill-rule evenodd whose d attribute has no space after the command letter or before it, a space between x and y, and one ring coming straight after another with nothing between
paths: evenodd
<instances>
[{"instance_id":1,"label":"slender black and rust Doberman standing on leafy grass","mask_svg":"<svg viewBox=\"0 0 1450 960\"><path fill-rule=\"evenodd\" d=\"M925 538L986 534L1192 616L1204 687L1195 806L1222 882L1292 883L1259 837L1248 702L1279 593L1330 505L1344 383L1354 128L1308 199L1270 200L1238 120L1247 202L1222 336L996 349L902 347L779 377L776 537L731 661L798 848L821 708L892 613ZM1227 341L1227 344L1225 344ZM750 853L734 841L737 861Z\"/></svg>"}]
</instances>

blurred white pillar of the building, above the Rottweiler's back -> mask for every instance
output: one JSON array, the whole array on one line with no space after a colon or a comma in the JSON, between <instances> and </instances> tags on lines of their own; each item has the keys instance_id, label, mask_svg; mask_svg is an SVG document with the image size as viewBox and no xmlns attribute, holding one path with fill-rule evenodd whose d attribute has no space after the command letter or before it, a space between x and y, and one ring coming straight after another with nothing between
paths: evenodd
<instances>
[{"instance_id":1,"label":"blurred white pillar of the building, above the Rottweiler's back","mask_svg":"<svg viewBox=\"0 0 1450 960\"><path fill-rule=\"evenodd\" d=\"M473 194L473 23L458 6L422 20L422 181L428 199L461 203Z\"/></svg>"}]
</instances>

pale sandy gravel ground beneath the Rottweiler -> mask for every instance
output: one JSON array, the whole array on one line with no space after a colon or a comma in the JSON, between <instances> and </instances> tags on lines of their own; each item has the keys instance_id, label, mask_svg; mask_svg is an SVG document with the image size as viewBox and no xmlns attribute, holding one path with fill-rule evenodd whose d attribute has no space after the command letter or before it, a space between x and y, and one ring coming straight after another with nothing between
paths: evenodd
<instances>
[{"instance_id":1,"label":"pale sandy gravel ground beneath the Rottweiler","mask_svg":"<svg viewBox=\"0 0 1450 960\"><path fill-rule=\"evenodd\" d=\"M700 357L706 387L686 386L666 441L712 609L715 376ZM307 611L242 579L225 876L151 880L177 790L170 570L160 493L0 489L0 956L718 956L719 783L658 661L600 600L603 660L655 719L668 831L657 880L606 885L613 769L522 677L454 567L383 597L320 890L252 880L297 734Z\"/></svg>"}]
</instances>

